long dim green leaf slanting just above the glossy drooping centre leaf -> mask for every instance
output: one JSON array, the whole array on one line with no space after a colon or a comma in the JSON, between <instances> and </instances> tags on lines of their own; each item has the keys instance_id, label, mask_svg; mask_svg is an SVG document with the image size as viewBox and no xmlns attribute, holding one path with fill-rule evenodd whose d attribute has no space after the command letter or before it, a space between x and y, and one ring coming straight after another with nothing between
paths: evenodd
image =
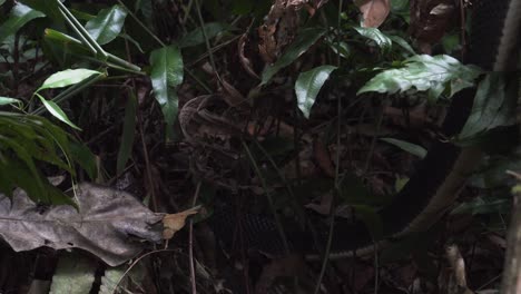
<instances>
[{"instance_id":1,"label":"long dim green leaf slanting just above the glossy drooping centre leaf","mask_svg":"<svg viewBox=\"0 0 521 294\"><path fill-rule=\"evenodd\" d=\"M266 85L281 69L293 63L293 61L306 52L324 33L325 30L322 28L307 28L302 30L281 58L263 71L263 81L260 85Z\"/></svg>"}]
</instances>

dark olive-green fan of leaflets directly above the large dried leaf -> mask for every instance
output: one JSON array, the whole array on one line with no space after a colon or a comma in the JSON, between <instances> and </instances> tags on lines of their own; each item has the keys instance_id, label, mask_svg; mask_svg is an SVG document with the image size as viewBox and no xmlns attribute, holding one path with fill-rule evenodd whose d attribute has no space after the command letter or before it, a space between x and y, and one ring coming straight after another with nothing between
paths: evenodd
<instances>
[{"instance_id":1,"label":"dark olive-green fan of leaflets directly above the large dried leaf","mask_svg":"<svg viewBox=\"0 0 521 294\"><path fill-rule=\"evenodd\" d=\"M37 202L73 204L38 168L47 163L75 175L71 165L79 159L70 150L73 141L42 117L0 112L0 192L11 195L20 187Z\"/></svg>"}]
</instances>

